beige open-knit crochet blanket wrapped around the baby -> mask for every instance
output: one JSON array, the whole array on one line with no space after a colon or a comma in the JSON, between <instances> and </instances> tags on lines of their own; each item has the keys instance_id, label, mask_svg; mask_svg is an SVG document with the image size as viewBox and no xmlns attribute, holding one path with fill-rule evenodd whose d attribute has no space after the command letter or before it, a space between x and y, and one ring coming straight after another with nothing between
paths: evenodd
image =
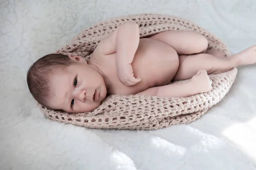
<instances>
[{"instance_id":1,"label":"beige open-knit crochet blanket wrapped around the baby","mask_svg":"<svg viewBox=\"0 0 256 170\"><path fill-rule=\"evenodd\" d=\"M160 14L138 14L113 18L84 30L70 43L56 53L76 54L90 58L98 42L108 36L117 26L135 21L140 26L140 37L146 37L166 30L195 30L207 37L209 48L224 51L230 55L227 46L215 35L180 17ZM41 111L54 121L90 128L154 130L171 125L190 123L200 118L213 105L220 102L229 91L237 74L234 68L212 77L212 90L186 98L162 98L156 96L107 97L102 105L88 113L64 113L51 111L38 104ZM179 82L175 82L179 83Z\"/></svg>"}]
</instances>

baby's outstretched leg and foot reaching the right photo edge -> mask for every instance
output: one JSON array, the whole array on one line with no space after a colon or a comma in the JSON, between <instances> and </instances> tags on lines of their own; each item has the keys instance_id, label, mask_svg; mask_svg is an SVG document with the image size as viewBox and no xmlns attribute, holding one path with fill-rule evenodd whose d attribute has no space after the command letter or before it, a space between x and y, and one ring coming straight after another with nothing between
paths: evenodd
<instances>
[{"instance_id":1,"label":"baby's outstretched leg and foot reaching the right photo edge","mask_svg":"<svg viewBox=\"0 0 256 170\"><path fill-rule=\"evenodd\" d=\"M205 69L207 74L219 74L240 65L256 62L256 46L247 48L229 57L215 57L211 54L181 55L180 66L174 81L190 79L198 70Z\"/></svg>"}]
</instances>

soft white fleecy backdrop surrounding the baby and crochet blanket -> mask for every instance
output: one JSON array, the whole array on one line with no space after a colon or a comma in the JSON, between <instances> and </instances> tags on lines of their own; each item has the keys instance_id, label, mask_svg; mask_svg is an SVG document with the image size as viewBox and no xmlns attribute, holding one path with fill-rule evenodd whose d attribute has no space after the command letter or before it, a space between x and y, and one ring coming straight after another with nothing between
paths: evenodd
<instances>
[{"instance_id":1,"label":"soft white fleecy backdrop surrounding the baby and crochet blanket","mask_svg":"<svg viewBox=\"0 0 256 170\"><path fill-rule=\"evenodd\" d=\"M255 0L0 0L1 170L256 169L256 65L189 125L96 130L39 111L26 85L32 62L98 21L138 13L192 20L233 53L256 44Z\"/></svg>"}]
</instances>

